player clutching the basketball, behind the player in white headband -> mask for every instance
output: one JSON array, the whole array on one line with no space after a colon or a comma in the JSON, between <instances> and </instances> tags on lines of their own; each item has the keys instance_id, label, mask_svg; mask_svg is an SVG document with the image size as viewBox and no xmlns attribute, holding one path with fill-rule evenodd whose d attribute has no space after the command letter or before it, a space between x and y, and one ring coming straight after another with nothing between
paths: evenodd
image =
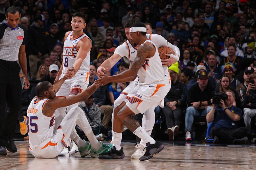
<instances>
[{"instance_id":1,"label":"player clutching the basketball, behind the player in white headband","mask_svg":"<svg viewBox=\"0 0 256 170\"><path fill-rule=\"evenodd\" d=\"M97 76L98 77L102 77L104 74L103 72L106 72L107 70L110 70L119 60L121 57L127 57L130 62L132 63L134 61L135 56L137 55L137 49L139 47L139 45L136 46L136 44L134 45L134 42L131 40L129 31L130 31L130 26L135 23L138 22L135 19L130 19L127 20L124 23L124 30L125 30L125 34L126 34L126 38L127 41L125 41L122 45L118 46L114 52L114 55L112 55L110 58L108 58L107 60L105 60L101 66L98 68L97 70ZM169 72L168 72L168 68L166 66L169 66L175 62L177 62L177 60L179 60L179 55L180 55L180 50L179 48L177 48L176 46L172 45L171 43L167 42L167 40L164 39L164 37L162 37L161 35L157 35L157 34L147 34L146 35L148 39L150 39L151 41L153 41L156 45L157 48L163 47L163 46L168 46L170 48L172 48L175 52L175 56L171 55L171 57L167 60L162 60L162 64L164 65L164 70L165 70L165 78L167 79L167 81L170 80L170 76L169 76ZM174 57L174 58L173 58ZM131 65L130 65L131 66ZM129 98L131 98L132 96L127 96L127 94L129 92L131 92L136 86L138 85L138 78L136 78L134 81L132 81L130 83L129 86L127 86L123 92L120 94L120 96L115 100L114 102L114 110L117 106L119 106L123 101L127 102ZM170 84L171 85L171 84ZM149 110L147 110L142 118L142 128L145 129L145 131L151 135L153 126L155 124L155 107L151 107ZM113 119L114 117L116 117L116 115L114 116L114 111L113 111L113 115L112 115L112 128L113 128ZM112 141L114 141L115 135L112 136ZM132 154L132 159L139 159L143 153L143 149L146 147L146 143L141 140L140 144L137 144L135 146L137 149L136 151Z\"/></svg>"}]
</instances>

